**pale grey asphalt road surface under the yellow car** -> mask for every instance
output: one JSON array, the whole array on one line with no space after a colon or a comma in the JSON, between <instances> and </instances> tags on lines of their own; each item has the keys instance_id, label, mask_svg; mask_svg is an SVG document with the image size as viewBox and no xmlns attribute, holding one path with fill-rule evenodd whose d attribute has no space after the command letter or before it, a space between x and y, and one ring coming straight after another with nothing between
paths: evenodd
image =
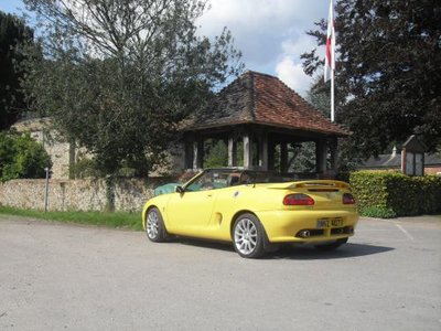
<instances>
[{"instance_id":1,"label":"pale grey asphalt road surface under the yellow car","mask_svg":"<svg viewBox=\"0 0 441 331\"><path fill-rule=\"evenodd\" d=\"M0 216L1 330L441 330L441 218L362 220L334 253Z\"/></svg>"}]
</instances>

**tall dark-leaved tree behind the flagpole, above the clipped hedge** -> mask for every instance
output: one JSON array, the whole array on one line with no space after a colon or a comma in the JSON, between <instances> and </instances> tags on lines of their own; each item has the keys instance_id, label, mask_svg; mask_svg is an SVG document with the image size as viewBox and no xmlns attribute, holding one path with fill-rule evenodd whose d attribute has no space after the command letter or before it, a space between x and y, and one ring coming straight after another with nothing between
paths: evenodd
<instances>
[{"instance_id":1,"label":"tall dark-leaved tree behind the flagpole, above the clipped hedge","mask_svg":"<svg viewBox=\"0 0 441 331\"><path fill-rule=\"evenodd\" d=\"M364 157L391 141L421 136L430 150L441 137L441 3L434 0L340 0L336 19L336 119L353 131ZM325 43L326 22L308 34ZM308 74L323 64L302 55Z\"/></svg>"}]
</instances>

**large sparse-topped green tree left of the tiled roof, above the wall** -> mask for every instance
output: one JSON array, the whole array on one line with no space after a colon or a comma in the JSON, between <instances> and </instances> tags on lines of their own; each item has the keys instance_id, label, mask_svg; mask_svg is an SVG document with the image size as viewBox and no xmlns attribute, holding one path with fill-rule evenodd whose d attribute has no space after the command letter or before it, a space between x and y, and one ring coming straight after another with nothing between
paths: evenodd
<instances>
[{"instance_id":1,"label":"large sparse-topped green tree left of the tiled roof, above the wall","mask_svg":"<svg viewBox=\"0 0 441 331\"><path fill-rule=\"evenodd\" d=\"M227 30L197 36L196 0L25 0L44 19L45 57L28 63L33 109L107 173L161 164L180 121L241 70Z\"/></svg>"}]
</instances>

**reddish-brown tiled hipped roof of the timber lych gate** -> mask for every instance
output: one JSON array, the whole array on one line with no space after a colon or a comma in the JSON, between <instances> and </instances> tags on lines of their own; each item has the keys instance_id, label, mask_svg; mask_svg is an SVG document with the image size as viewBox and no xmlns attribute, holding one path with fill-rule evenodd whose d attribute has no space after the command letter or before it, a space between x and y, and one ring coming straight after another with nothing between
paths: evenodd
<instances>
[{"instance_id":1,"label":"reddish-brown tiled hipped roof of the timber lych gate","mask_svg":"<svg viewBox=\"0 0 441 331\"><path fill-rule=\"evenodd\" d=\"M279 78L246 72L218 93L186 130L237 124L261 124L289 129L347 136Z\"/></svg>"}]
</instances>

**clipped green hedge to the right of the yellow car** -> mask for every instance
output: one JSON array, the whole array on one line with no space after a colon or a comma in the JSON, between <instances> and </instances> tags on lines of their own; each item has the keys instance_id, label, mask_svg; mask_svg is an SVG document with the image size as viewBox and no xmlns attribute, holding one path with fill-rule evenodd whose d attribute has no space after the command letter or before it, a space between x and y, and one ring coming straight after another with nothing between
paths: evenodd
<instances>
[{"instance_id":1,"label":"clipped green hedge to the right of the yellow car","mask_svg":"<svg viewBox=\"0 0 441 331\"><path fill-rule=\"evenodd\" d=\"M413 216L441 212L441 177L357 171L349 175L362 215Z\"/></svg>"}]
</instances>

